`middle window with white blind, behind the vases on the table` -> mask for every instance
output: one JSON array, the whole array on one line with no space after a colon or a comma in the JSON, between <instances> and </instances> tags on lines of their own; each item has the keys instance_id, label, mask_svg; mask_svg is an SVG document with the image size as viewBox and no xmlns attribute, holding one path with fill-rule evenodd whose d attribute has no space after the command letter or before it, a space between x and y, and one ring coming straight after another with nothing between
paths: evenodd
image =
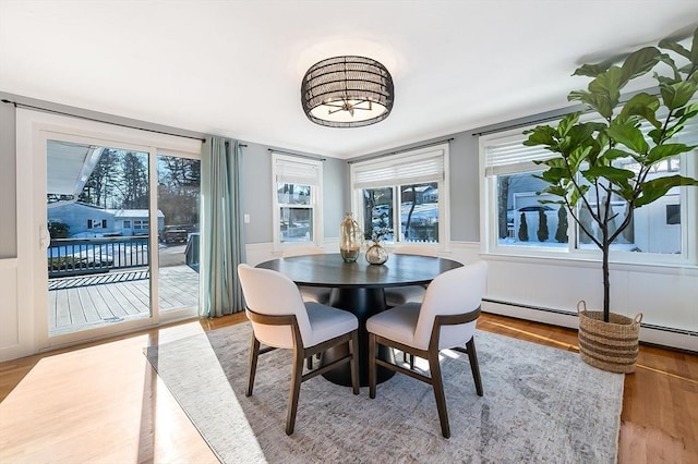
<instances>
[{"instance_id":1,"label":"middle window with white blind, behind the vases on the table","mask_svg":"<svg viewBox=\"0 0 698 464\"><path fill-rule=\"evenodd\" d=\"M366 239L388 228L393 243L447 243L448 145L351 164L356 219Z\"/></svg>"}]
</instances>

